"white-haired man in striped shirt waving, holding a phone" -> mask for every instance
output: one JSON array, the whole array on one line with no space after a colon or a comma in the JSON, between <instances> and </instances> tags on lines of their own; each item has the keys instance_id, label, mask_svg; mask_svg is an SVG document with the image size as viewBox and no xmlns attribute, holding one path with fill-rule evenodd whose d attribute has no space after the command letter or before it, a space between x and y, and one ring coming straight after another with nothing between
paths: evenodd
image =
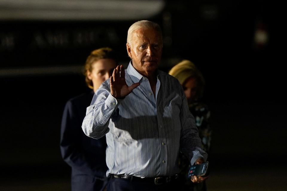
<instances>
[{"instance_id":1,"label":"white-haired man in striped shirt waving, holding a phone","mask_svg":"<svg viewBox=\"0 0 287 191\"><path fill-rule=\"evenodd\" d=\"M162 47L158 24L132 24L126 43L129 66L117 66L87 108L85 134L106 135L108 190L178 189L179 150L191 164L206 160L181 85L158 70Z\"/></svg>"}]
</instances>

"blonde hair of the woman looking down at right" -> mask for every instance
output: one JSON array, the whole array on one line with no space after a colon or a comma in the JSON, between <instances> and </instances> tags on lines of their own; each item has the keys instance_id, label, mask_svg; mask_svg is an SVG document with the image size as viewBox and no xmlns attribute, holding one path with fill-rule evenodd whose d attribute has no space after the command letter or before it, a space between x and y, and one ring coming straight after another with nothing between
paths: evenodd
<instances>
[{"instance_id":1,"label":"blonde hair of the woman looking down at right","mask_svg":"<svg viewBox=\"0 0 287 191\"><path fill-rule=\"evenodd\" d=\"M183 60L176 64L169 72L170 75L178 79L181 85L184 85L188 78L195 78L197 81L198 97L202 97L205 81L201 72L189 60Z\"/></svg>"}]
</instances>

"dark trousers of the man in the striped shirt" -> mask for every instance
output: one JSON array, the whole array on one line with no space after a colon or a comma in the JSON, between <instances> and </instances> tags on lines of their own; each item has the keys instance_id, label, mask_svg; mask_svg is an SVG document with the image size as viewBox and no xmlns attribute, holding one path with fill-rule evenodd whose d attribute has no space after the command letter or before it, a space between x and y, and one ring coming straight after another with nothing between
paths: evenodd
<instances>
[{"instance_id":1,"label":"dark trousers of the man in the striped shirt","mask_svg":"<svg viewBox=\"0 0 287 191\"><path fill-rule=\"evenodd\" d=\"M180 191L180 184L177 180L168 183L155 185L152 181L127 180L122 178L110 178L107 191Z\"/></svg>"}]
</instances>

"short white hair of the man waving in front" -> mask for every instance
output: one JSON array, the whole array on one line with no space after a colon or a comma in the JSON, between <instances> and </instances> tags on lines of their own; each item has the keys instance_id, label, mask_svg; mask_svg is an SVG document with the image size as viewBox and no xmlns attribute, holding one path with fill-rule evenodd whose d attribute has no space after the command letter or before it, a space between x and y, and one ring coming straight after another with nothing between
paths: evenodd
<instances>
[{"instance_id":1,"label":"short white hair of the man waving in front","mask_svg":"<svg viewBox=\"0 0 287 191\"><path fill-rule=\"evenodd\" d=\"M128 43L130 46L132 46L132 35L135 31L141 29L141 28L145 28L145 29L154 29L155 31L158 32L158 34L160 35L161 38L161 44L162 44L162 33L161 33L161 27L152 21L146 21L146 20L142 20L142 21L137 21L134 24L132 24L129 27L128 30L128 36L126 38L126 43Z\"/></svg>"}]
</instances>

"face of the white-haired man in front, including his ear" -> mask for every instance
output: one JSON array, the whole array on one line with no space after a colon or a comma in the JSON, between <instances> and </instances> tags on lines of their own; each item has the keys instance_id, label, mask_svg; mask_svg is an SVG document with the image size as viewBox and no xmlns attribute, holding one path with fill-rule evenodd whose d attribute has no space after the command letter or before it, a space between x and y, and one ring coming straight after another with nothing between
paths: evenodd
<instances>
[{"instance_id":1,"label":"face of the white-haired man in front, including his ear","mask_svg":"<svg viewBox=\"0 0 287 191\"><path fill-rule=\"evenodd\" d=\"M161 36L153 29L141 28L133 33L132 44L126 44L135 69L149 76L160 64L162 53Z\"/></svg>"}]
</instances>

